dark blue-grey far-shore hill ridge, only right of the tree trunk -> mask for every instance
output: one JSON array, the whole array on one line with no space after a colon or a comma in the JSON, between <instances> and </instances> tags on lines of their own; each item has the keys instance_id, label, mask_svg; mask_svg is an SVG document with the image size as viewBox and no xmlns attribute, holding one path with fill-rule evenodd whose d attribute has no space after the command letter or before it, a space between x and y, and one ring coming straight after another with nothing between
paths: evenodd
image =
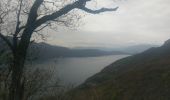
<instances>
[{"instance_id":1,"label":"dark blue-grey far-shore hill ridge, only right of the tree trunk","mask_svg":"<svg viewBox=\"0 0 170 100\"><path fill-rule=\"evenodd\" d=\"M102 51L97 49L70 49L61 46L53 46L46 43L34 43L30 48L37 52L41 59L51 59L56 57L94 57L104 55L119 55L125 54L119 51Z\"/></svg>"}]
</instances>

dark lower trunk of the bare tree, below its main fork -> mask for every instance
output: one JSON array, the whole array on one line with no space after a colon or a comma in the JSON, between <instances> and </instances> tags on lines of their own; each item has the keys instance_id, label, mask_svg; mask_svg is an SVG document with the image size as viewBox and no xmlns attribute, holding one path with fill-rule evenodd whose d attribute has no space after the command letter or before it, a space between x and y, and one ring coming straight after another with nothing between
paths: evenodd
<instances>
[{"instance_id":1,"label":"dark lower trunk of the bare tree, below its main fork","mask_svg":"<svg viewBox=\"0 0 170 100\"><path fill-rule=\"evenodd\" d=\"M33 31L26 29L23 33L20 43L15 48L13 55L14 61L12 65L12 81L9 91L9 100L22 100L24 95L24 78L23 69L25 58L27 55L27 48L30 43L30 38Z\"/></svg>"}]
</instances>

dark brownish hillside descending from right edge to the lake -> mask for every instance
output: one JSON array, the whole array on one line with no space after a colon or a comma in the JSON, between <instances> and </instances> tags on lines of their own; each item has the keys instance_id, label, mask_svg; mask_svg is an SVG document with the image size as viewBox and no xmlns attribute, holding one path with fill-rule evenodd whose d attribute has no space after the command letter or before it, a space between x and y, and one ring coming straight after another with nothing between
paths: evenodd
<instances>
[{"instance_id":1,"label":"dark brownish hillside descending from right edge to the lake","mask_svg":"<svg viewBox=\"0 0 170 100\"><path fill-rule=\"evenodd\" d=\"M121 59L89 78L75 100L170 100L170 40Z\"/></svg>"}]
</instances>

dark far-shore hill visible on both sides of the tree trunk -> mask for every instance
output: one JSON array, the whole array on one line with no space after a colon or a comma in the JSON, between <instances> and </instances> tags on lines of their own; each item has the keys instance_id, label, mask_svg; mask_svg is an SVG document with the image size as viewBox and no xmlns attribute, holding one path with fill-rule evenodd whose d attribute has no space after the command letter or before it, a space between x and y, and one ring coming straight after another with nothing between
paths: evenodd
<instances>
[{"instance_id":1,"label":"dark far-shore hill visible on both sides of the tree trunk","mask_svg":"<svg viewBox=\"0 0 170 100\"><path fill-rule=\"evenodd\" d=\"M10 37L9 37L10 38ZM0 39L0 61L2 55L8 50L7 45ZM121 51L104 51L98 49L70 49L54 46L47 43L32 43L28 50L29 60L49 60L58 57L96 57L105 55L127 54Z\"/></svg>"}]
</instances>

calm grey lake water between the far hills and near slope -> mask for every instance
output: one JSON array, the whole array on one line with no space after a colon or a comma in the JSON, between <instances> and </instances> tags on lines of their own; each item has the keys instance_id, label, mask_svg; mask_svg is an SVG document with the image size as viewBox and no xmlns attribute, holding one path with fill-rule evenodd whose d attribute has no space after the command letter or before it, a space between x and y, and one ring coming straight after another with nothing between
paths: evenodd
<instances>
[{"instance_id":1,"label":"calm grey lake water between the far hills and near slope","mask_svg":"<svg viewBox=\"0 0 170 100\"><path fill-rule=\"evenodd\" d=\"M60 58L36 64L36 66L43 66L52 70L54 79L59 78L62 84L79 85L90 76L100 72L107 65L127 56Z\"/></svg>"}]
</instances>

